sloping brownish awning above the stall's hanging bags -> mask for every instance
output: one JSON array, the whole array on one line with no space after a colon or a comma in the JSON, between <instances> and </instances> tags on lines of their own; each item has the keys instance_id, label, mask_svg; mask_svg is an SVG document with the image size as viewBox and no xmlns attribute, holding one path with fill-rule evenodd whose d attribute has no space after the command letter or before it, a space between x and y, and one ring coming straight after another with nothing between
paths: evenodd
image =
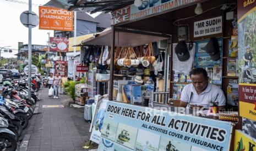
<instances>
[{"instance_id":1,"label":"sloping brownish awning above the stall's hanging bags","mask_svg":"<svg viewBox=\"0 0 256 151\"><path fill-rule=\"evenodd\" d=\"M159 42L168 37L146 35L134 32L116 31L115 46L119 47L136 47L138 45ZM88 38L81 42L81 45L111 45L111 28L107 28L94 37Z\"/></svg>"}]
</instances>

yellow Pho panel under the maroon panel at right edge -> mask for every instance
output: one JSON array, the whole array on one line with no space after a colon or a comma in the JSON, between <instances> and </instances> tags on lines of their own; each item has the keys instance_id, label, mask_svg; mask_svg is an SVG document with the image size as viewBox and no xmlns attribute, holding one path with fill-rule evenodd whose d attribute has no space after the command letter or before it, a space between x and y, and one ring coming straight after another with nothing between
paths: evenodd
<instances>
[{"instance_id":1,"label":"yellow Pho panel under the maroon panel at right edge","mask_svg":"<svg viewBox=\"0 0 256 151\"><path fill-rule=\"evenodd\" d=\"M256 120L255 104L239 101L239 114L241 117Z\"/></svg>"}]
</instances>

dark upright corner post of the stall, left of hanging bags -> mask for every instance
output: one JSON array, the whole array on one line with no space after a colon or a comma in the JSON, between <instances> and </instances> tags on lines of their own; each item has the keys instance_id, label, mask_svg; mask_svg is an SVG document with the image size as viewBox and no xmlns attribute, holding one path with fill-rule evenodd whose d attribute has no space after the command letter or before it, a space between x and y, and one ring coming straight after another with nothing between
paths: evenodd
<instances>
[{"instance_id":1,"label":"dark upright corner post of the stall, left of hanging bags","mask_svg":"<svg viewBox=\"0 0 256 151\"><path fill-rule=\"evenodd\" d=\"M111 27L111 50L110 50L110 94L108 100L113 100L113 81L114 81L114 58L115 58L115 27Z\"/></svg>"}]
</instances>

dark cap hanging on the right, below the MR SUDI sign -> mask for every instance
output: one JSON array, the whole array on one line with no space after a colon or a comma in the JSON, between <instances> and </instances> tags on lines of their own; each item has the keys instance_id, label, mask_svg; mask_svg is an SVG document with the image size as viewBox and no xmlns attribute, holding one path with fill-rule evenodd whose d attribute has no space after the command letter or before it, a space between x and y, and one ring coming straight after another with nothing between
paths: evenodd
<instances>
[{"instance_id":1,"label":"dark cap hanging on the right, below the MR SUDI sign","mask_svg":"<svg viewBox=\"0 0 256 151\"><path fill-rule=\"evenodd\" d=\"M220 59L220 48L218 40L214 37L211 37L209 42L205 45L205 47L201 48L206 51L211 57L211 60L217 61Z\"/></svg>"}]
</instances>

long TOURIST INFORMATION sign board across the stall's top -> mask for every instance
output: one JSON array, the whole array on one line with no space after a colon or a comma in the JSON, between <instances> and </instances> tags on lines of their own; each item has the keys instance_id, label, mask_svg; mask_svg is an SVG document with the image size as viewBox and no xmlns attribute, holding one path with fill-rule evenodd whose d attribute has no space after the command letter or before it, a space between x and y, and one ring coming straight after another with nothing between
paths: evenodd
<instances>
[{"instance_id":1,"label":"long TOURIST INFORMATION sign board across the stall's top","mask_svg":"<svg viewBox=\"0 0 256 151\"><path fill-rule=\"evenodd\" d=\"M112 24L121 22L139 20L151 15L160 14L164 11L172 10L184 5L197 2L199 0L178 1L178 0L144 0L140 7L134 4L128 7L118 9L112 13Z\"/></svg>"}]
</instances>

